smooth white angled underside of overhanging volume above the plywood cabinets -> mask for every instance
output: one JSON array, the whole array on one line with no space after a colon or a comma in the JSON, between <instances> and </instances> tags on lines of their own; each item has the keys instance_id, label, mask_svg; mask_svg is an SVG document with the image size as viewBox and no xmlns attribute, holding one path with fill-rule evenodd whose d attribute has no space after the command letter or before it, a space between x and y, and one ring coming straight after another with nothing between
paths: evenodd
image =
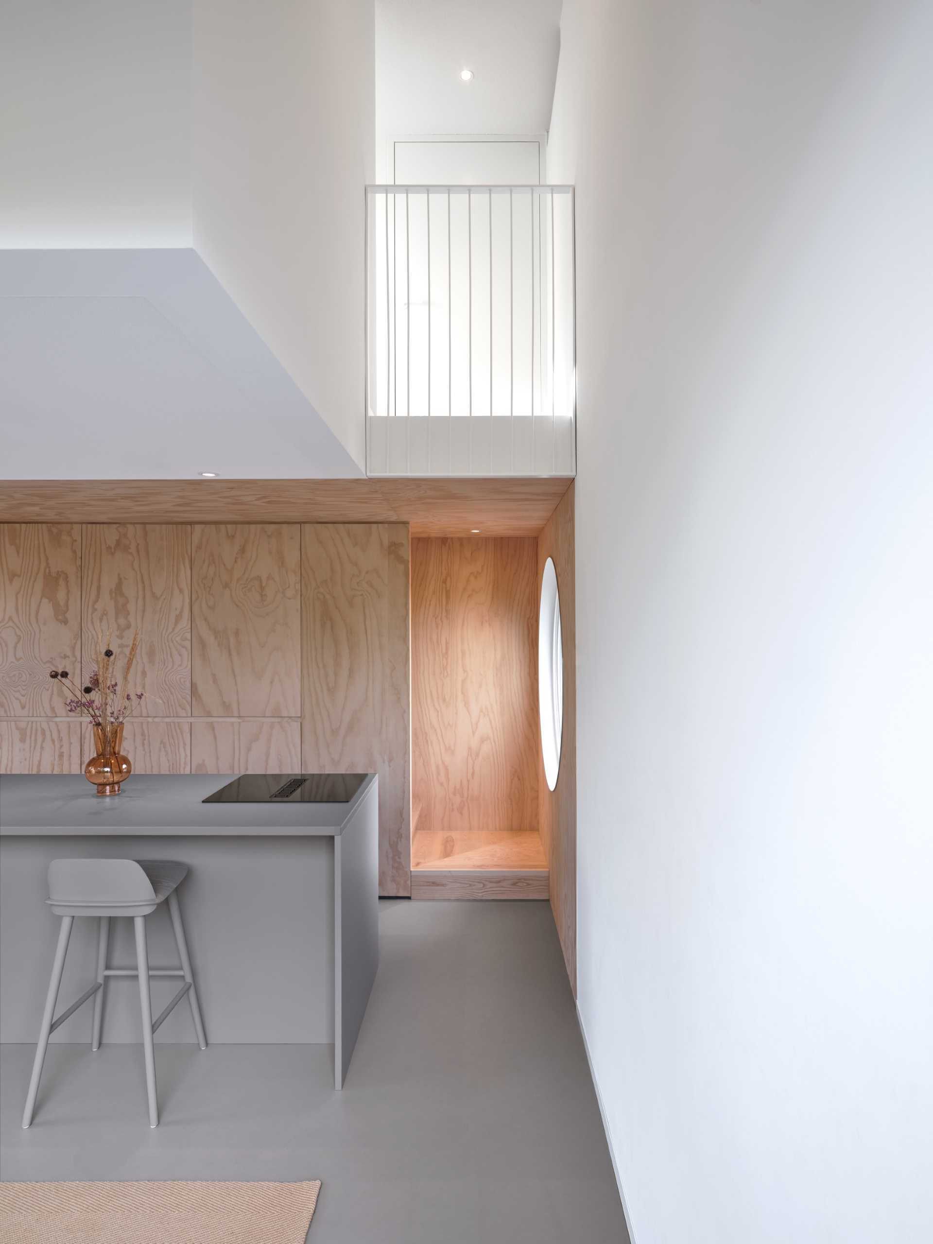
<instances>
[{"instance_id":1,"label":"smooth white angled underside of overhanging volume above the plywood cabinets","mask_svg":"<svg viewBox=\"0 0 933 1244\"><path fill-rule=\"evenodd\" d=\"M194 250L0 251L0 479L200 471L362 475Z\"/></svg>"}]
</instances>

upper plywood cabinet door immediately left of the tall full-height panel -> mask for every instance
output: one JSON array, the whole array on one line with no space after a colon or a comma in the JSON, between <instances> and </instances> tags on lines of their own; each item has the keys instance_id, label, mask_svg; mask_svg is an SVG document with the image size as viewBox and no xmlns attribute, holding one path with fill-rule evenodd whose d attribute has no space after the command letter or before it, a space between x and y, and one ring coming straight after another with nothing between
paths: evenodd
<instances>
[{"instance_id":1,"label":"upper plywood cabinet door immediately left of the tall full-height panel","mask_svg":"<svg viewBox=\"0 0 933 1244\"><path fill-rule=\"evenodd\" d=\"M267 522L193 527L193 717L301 713L300 531Z\"/></svg>"}]
</instances>

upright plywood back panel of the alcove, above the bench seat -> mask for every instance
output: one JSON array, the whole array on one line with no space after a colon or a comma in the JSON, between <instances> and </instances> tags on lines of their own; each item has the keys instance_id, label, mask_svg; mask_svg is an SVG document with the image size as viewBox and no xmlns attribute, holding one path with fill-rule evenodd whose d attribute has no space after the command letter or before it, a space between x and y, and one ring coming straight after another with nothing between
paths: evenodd
<instances>
[{"instance_id":1,"label":"upright plywood back panel of the alcove, above the bench seat","mask_svg":"<svg viewBox=\"0 0 933 1244\"><path fill-rule=\"evenodd\" d=\"M536 545L412 541L418 829L537 829Z\"/></svg>"}]
</instances>

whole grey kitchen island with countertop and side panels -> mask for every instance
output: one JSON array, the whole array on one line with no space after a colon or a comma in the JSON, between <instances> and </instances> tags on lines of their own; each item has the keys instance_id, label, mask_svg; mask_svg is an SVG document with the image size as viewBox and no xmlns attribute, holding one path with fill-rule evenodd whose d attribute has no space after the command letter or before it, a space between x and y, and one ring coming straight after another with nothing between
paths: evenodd
<instances>
[{"instance_id":1,"label":"whole grey kitchen island with countertop and side panels","mask_svg":"<svg viewBox=\"0 0 933 1244\"><path fill-rule=\"evenodd\" d=\"M333 1042L343 1086L378 965L378 778L364 775L346 802L203 802L236 776L133 775L108 797L83 776L0 776L0 1041L39 1033L58 923L45 903L49 862L179 860L208 1041ZM96 923L76 921L62 1001L95 979ZM132 964L132 922L114 923L111 964ZM147 923L151 963L174 967L168 913ZM108 984L104 1045L139 1041L132 993ZM177 1008L157 1042L192 1041L185 1020ZM87 1008L52 1040L90 1046Z\"/></svg>"}]
</instances>

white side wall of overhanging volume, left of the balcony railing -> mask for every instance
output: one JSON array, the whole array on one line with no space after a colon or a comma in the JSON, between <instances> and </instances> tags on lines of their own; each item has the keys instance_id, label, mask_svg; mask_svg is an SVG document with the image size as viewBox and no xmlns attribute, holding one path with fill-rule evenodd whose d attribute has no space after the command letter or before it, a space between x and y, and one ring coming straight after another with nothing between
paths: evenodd
<instances>
[{"instance_id":1,"label":"white side wall of overhanging volume, left of the balcony railing","mask_svg":"<svg viewBox=\"0 0 933 1244\"><path fill-rule=\"evenodd\" d=\"M373 0L194 0L194 246L364 465Z\"/></svg>"}]
</instances>

